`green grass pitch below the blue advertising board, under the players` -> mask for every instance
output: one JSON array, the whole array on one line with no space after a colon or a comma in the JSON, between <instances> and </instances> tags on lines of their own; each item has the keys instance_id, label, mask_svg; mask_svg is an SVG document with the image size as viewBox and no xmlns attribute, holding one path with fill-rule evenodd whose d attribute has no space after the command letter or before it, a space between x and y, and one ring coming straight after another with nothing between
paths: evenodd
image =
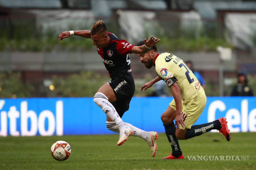
<instances>
[{"instance_id":1,"label":"green grass pitch below the blue advertising board, under the players","mask_svg":"<svg viewBox=\"0 0 256 170\"><path fill-rule=\"evenodd\" d=\"M117 146L119 135L0 137L0 169L255 169L256 133L233 133L228 142L222 134L206 133L189 140L180 140L184 160L161 160L171 147L165 134L159 134L158 152L151 157L147 143L129 137ZM52 158L50 147L64 140L71 145L68 160ZM249 160L188 160L187 156L249 156ZM247 157L246 157L247 158Z\"/></svg>"}]
</instances>

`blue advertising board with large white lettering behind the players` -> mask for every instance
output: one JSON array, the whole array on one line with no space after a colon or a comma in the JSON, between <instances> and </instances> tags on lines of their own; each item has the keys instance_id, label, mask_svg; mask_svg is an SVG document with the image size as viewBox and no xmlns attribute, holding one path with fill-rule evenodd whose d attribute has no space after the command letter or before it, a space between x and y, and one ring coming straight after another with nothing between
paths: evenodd
<instances>
[{"instance_id":1,"label":"blue advertising board with large white lettering behind the players","mask_svg":"<svg viewBox=\"0 0 256 170\"><path fill-rule=\"evenodd\" d=\"M160 119L172 97L134 97L122 119L146 131L164 132ZM226 117L231 132L256 131L256 97L207 97L195 124ZM93 98L0 99L0 136L112 134Z\"/></svg>"}]
</instances>

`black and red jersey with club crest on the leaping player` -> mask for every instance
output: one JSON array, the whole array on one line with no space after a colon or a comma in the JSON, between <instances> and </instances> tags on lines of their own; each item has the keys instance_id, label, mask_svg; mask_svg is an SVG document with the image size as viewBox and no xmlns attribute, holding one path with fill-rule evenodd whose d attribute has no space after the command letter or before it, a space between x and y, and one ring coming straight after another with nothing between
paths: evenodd
<instances>
[{"instance_id":1,"label":"black and red jersey with club crest on the leaping player","mask_svg":"<svg viewBox=\"0 0 256 170\"><path fill-rule=\"evenodd\" d=\"M120 40L113 33L108 33L110 37L109 44L105 48L100 48L98 54L103 61L111 79L119 75L131 74L130 58L133 46L126 40Z\"/></svg>"}]
</instances>

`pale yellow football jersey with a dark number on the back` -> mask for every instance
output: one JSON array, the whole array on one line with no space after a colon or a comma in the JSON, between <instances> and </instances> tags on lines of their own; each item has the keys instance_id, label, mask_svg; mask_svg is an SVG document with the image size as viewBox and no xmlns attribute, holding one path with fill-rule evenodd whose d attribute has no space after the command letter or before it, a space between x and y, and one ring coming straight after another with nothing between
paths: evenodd
<instances>
[{"instance_id":1,"label":"pale yellow football jersey with a dark number on the back","mask_svg":"<svg viewBox=\"0 0 256 170\"><path fill-rule=\"evenodd\" d=\"M203 91L196 76L179 57L166 52L157 54L155 64L157 75L168 87L176 81L181 90L182 103L187 103Z\"/></svg>"}]
</instances>

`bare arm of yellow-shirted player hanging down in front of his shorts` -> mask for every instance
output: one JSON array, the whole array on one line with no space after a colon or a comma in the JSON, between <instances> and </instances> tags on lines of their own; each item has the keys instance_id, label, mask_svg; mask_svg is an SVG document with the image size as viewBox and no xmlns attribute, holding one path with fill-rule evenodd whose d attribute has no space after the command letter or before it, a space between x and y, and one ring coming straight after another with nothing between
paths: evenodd
<instances>
[{"instance_id":1,"label":"bare arm of yellow-shirted player hanging down in front of his shorts","mask_svg":"<svg viewBox=\"0 0 256 170\"><path fill-rule=\"evenodd\" d=\"M185 126L181 115L181 90L177 83L174 83L170 88L172 89L173 98L176 104L175 125L177 125L178 130L180 130L180 124L183 128Z\"/></svg>"}]
</instances>

